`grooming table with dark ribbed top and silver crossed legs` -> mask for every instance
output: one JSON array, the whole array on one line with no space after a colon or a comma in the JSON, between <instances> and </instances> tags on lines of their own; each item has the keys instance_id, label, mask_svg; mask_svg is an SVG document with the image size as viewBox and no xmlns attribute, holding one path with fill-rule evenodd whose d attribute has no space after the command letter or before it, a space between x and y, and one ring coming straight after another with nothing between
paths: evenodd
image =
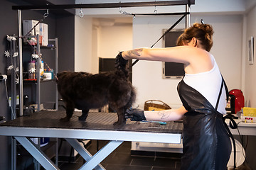
<instances>
[{"instance_id":1,"label":"grooming table with dark ribbed top and silver crossed legs","mask_svg":"<svg viewBox=\"0 0 256 170\"><path fill-rule=\"evenodd\" d=\"M126 125L114 128L116 113L89 113L86 122L78 120L75 112L69 122L60 122L65 111L40 111L0 124L0 135L13 136L45 168L59 169L29 137L65 138L86 160L80 169L104 169L100 162L124 141L180 143L182 123L141 123L127 120ZM77 139L110 140L94 156Z\"/></svg>"}]
</instances>

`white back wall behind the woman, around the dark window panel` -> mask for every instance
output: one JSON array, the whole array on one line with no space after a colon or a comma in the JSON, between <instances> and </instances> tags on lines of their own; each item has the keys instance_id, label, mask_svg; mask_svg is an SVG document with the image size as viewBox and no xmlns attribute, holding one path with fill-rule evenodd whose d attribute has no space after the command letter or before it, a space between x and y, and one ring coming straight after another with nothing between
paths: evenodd
<instances>
[{"instance_id":1,"label":"white back wall behind the woman, around the dark window panel","mask_svg":"<svg viewBox=\"0 0 256 170\"><path fill-rule=\"evenodd\" d=\"M215 30L211 52L229 89L241 89L242 16L192 16L191 23L198 22L201 18ZM170 16L137 16L133 22L134 48L150 47L161 37L163 29L171 27L177 19ZM184 26L182 21L176 28ZM162 47L162 42L158 42L154 47ZM161 74L161 62L139 61L134 65L132 81L137 88L136 106L143 108L144 101L149 99L159 99L173 108L181 106L176 91L180 79L162 79Z\"/></svg>"}]
</instances>

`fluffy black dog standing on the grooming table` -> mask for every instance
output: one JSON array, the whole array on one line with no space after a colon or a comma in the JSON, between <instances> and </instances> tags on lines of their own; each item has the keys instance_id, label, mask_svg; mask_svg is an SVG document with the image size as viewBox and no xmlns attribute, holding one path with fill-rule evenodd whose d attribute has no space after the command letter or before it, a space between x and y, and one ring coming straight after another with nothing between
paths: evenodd
<instances>
[{"instance_id":1,"label":"fluffy black dog standing on the grooming table","mask_svg":"<svg viewBox=\"0 0 256 170\"><path fill-rule=\"evenodd\" d=\"M116 70L100 74L86 72L60 72L58 77L58 91L66 106L68 121L75 108L82 110L79 120L85 121L90 108L102 108L109 104L117 112L118 121L114 125L125 123L125 111L131 108L135 100L135 91L128 80L127 62L118 58Z\"/></svg>"}]
</instances>

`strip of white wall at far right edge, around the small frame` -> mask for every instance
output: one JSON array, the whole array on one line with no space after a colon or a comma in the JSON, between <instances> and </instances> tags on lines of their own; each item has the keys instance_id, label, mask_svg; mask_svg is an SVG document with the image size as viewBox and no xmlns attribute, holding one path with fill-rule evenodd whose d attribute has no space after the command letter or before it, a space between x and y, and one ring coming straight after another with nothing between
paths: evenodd
<instances>
[{"instance_id":1,"label":"strip of white wall at far right edge, around the small frame","mask_svg":"<svg viewBox=\"0 0 256 170\"><path fill-rule=\"evenodd\" d=\"M255 64L250 65L248 62L248 40L253 36L256 40L256 7L247 14L247 31L246 31L246 47L245 47L245 101L247 106L256 108L256 60ZM256 43L255 43L256 44ZM255 49L255 48L254 48ZM255 52L256 53L256 52ZM255 56L255 55L254 55Z\"/></svg>"}]
</instances>

